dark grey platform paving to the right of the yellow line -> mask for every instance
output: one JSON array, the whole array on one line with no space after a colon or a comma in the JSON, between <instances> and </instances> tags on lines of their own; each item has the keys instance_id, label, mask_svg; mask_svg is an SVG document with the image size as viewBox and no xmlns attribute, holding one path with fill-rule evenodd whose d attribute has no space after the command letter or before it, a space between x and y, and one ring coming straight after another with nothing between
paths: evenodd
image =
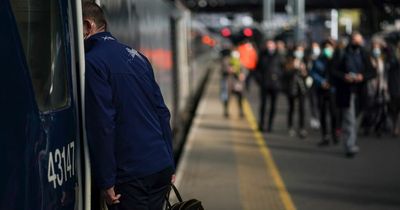
<instances>
[{"instance_id":1,"label":"dark grey platform paving to the right of the yellow line","mask_svg":"<svg viewBox=\"0 0 400 210\"><path fill-rule=\"evenodd\" d=\"M258 113L258 87L251 86L247 97ZM348 159L342 143L317 147L319 131L308 128L309 136L304 140L290 137L283 94L278 104L275 129L264 133L264 137L297 209L400 209L399 138L389 134L381 138L360 135L360 153Z\"/></svg>"}]
</instances>

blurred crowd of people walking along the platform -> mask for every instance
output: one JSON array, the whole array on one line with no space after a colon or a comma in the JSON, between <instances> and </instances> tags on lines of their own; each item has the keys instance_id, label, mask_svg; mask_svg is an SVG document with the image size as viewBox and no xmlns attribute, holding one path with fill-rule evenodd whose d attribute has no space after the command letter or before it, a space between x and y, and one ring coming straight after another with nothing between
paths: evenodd
<instances>
[{"instance_id":1,"label":"blurred crowd of people walking along the platform","mask_svg":"<svg viewBox=\"0 0 400 210\"><path fill-rule=\"evenodd\" d=\"M225 117L231 96L243 117L243 92L257 84L262 132L273 132L277 99L284 95L290 136L307 138L307 128L320 130L318 146L342 141L348 157L359 152L359 135L400 134L400 42L373 37L366 43L358 32L308 45L244 40L221 50L221 75Z\"/></svg>"}]
</instances>

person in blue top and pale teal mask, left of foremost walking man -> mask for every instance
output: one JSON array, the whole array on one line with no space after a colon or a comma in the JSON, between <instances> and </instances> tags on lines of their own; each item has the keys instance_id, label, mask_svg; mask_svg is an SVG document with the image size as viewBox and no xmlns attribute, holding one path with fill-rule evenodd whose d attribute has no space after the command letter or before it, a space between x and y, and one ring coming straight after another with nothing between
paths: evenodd
<instances>
[{"instance_id":1,"label":"person in blue top and pale teal mask, left of foremost walking man","mask_svg":"<svg viewBox=\"0 0 400 210\"><path fill-rule=\"evenodd\" d=\"M320 122L322 140L318 146L328 146L332 140L334 144L338 143L336 135L336 106L335 106L335 87L330 78L330 69L334 54L334 44L325 41L323 44L322 54L314 62L311 69L311 76L315 81L318 96L318 107L320 111ZM327 129L327 115L330 116L330 134Z\"/></svg>"}]
</instances>

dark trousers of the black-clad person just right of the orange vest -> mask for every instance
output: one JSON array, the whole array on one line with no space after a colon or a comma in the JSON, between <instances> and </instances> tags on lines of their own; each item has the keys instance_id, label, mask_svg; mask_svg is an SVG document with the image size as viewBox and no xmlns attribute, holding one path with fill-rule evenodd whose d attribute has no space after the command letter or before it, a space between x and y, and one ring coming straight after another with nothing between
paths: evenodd
<instances>
[{"instance_id":1,"label":"dark trousers of the black-clad person just right of the orange vest","mask_svg":"<svg viewBox=\"0 0 400 210\"><path fill-rule=\"evenodd\" d=\"M269 107L269 117L268 117L268 131L272 130L272 125L275 117L275 109L276 109L276 99L278 97L277 90L261 90L261 103L260 103L260 118L259 118L259 129L263 130L264 128L264 117L267 105L267 97L270 100Z\"/></svg>"}]
</instances>

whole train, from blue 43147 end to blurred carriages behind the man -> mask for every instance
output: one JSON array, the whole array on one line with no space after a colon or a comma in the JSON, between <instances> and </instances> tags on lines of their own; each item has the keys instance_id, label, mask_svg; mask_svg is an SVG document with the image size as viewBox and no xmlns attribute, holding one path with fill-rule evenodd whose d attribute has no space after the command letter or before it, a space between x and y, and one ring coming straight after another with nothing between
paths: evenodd
<instances>
[{"instance_id":1,"label":"whole train, from blue 43147 end to blurred carriages behind the man","mask_svg":"<svg viewBox=\"0 0 400 210\"><path fill-rule=\"evenodd\" d=\"M109 31L151 61L179 150L217 56L215 43L193 26L180 1L95 2ZM98 208L84 124L81 5L0 0L1 210Z\"/></svg>"}]
</instances>

